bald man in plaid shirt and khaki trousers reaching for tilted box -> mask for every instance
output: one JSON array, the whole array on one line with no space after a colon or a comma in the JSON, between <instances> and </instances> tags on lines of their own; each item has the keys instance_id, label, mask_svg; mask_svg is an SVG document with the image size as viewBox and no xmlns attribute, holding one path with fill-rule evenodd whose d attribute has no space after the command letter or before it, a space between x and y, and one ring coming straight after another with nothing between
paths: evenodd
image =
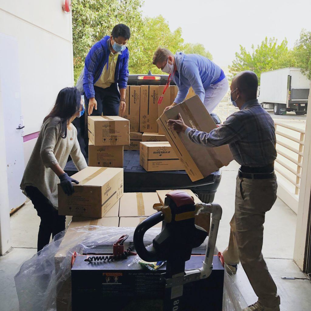
<instances>
[{"instance_id":1,"label":"bald man in plaid shirt and khaki trousers reaching for tilted box","mask_svg":"<svg viewBox=\"0 0 311 311\"><path fill-rule=\"evenodd\" d=\"M258 78L244 71L231 83L231 101L240 110L210 133L189 128L179 114L168 120L171 130L185 132L190 140L207 147L228 144L240 165L236 179L235 212L230 221L229 246L224 251L231 274L241 262L258 301L243 311L279 311L280 297L262 256L265 213L276 201L276 136L270 114L257 100Z\"/></svg>"}]
</instances>

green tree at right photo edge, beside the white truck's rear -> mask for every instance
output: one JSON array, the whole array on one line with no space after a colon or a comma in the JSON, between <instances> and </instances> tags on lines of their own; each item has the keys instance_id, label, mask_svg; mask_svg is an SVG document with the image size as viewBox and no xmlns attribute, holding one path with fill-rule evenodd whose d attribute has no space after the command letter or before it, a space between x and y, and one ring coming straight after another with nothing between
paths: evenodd
<instances>
[{"instance_id":1,"label":"green tree at right photo edge, beside the white truck's rear","mask_svg":"<svg viewBox=\"0 0 311 311\"><path fill-rule=\"evenodd\" d=\"M311 31L301 30L300 38L296 41L293 50L296 66L311 79Z\"/></svg>"}]
</instances>

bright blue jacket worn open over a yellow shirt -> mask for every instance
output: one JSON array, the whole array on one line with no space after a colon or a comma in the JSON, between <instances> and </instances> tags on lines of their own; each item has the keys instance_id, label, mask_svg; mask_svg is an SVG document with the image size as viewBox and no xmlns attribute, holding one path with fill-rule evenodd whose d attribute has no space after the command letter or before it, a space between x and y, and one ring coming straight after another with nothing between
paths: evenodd
<instances>
[{"instance_id":1,"label":"bright blue jacket worn open over a yellow shirt","mask_svg":"<svg viewBox=\"0 0 311 311\"><path fill-rule=\"evenodd\" d=\"M95 43L86 55L83 77L83 89L87 98L95 97L94 84L100 78L104 66L107 65L110 53L110 36ZM114 72L114 83L116 89L126 89L128 86L128 48L124 49L118 56L116 69Z\"/></svg>"}]
</instances>

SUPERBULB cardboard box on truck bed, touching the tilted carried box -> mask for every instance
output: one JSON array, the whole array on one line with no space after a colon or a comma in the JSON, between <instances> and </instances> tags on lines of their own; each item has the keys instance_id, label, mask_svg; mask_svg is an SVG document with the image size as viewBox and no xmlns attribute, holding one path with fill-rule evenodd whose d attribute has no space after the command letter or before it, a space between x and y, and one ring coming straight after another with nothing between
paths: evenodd
<instances>
[{"instance_id":1,"label":"SUPERBULB cardboard box on truck bed, touching the tilted carried box","mask_svg":"<svg viewBox=\"0 0 311 311\"><path fill-rule=\"evenodd\" d=\"M169 142L141 142L139 162L148 172L184 169Z\"/></svg>"}]
</instances>

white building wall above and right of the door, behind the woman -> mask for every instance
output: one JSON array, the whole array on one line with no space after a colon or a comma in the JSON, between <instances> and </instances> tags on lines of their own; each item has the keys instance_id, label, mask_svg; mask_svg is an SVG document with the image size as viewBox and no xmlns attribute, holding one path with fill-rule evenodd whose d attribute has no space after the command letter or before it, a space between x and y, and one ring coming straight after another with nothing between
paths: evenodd
<instances>
[{"instance_id":1,"label":"white building wall above and right of the door, behind the woman","mask_svg":"<svg viewBox=\"0 0 311 311\"><path fill-rule=\"evenodd\" d=\"M58 92L73 85L72 16L62 4L0 0L0 33L18 41L24 135L39 131ZM25 163L33 146L24 143Z\"/></svg>"}]
</instances>

